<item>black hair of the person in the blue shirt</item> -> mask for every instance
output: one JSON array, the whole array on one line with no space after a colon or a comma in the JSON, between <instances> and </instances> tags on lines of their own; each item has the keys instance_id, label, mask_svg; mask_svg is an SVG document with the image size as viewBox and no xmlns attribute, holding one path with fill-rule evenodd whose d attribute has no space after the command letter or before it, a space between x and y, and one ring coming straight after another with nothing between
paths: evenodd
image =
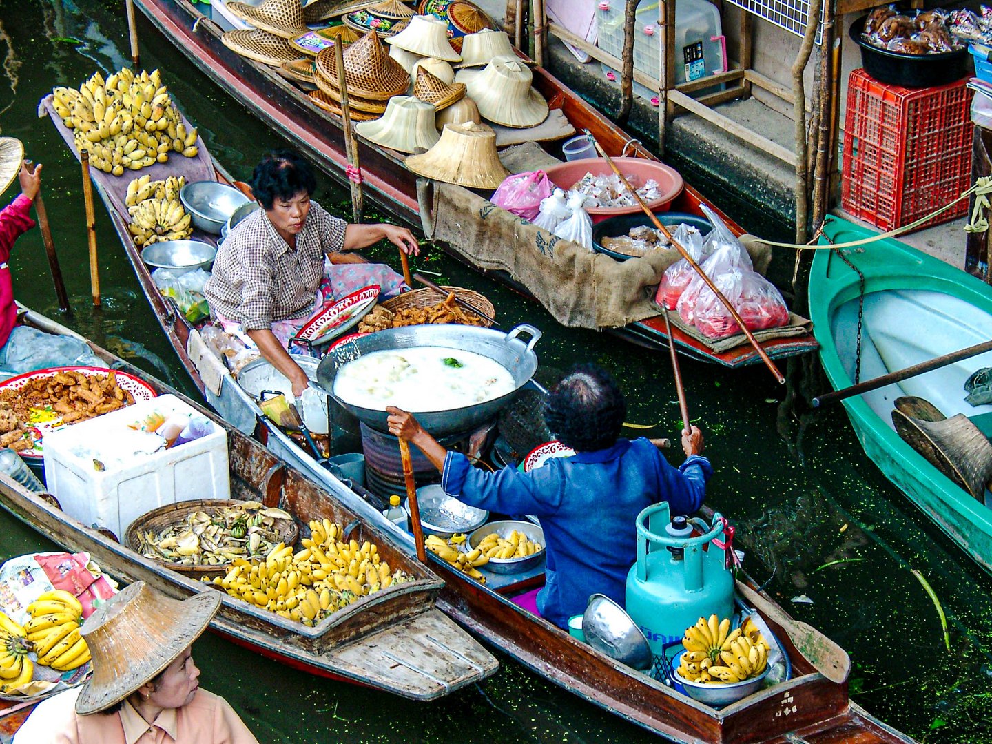
<instances>
[{"instance_id":1,"label":"black hair of the person in the blue shirt","mask_svg":"<svg viewBox=\"0 0 992 744\"><path fill-rule=\"evenodd\" d=\"M627 402L613 376L580 364L548 395L545 423L558 441L579 452L613 446L627 416Z\"/></svg>"}]
</instances>

